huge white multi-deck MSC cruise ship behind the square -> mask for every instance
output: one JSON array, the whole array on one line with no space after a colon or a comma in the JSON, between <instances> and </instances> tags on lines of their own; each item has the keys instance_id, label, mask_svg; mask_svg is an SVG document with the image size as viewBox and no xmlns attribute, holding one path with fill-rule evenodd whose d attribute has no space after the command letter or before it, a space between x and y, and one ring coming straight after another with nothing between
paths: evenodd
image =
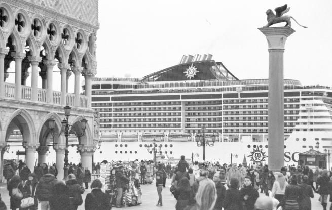
<instances>
[{"instance_id":1,"label":"huge white multi-deck MSC cruise ship behind the square","mask_svg":"<svg viewBox=\"0 0 332 210\"><path fill-rule=\"evenodd\" d=\"M197 144L204 134L214 141L205 147L207 161L267 164L268 82L238 79L211 54L182 56L141 79L94 78L91 101L102 140L95 158L153 159L155 141L159 157L202 160ZM330 87L284 79L284 140L286 165L310 149L332 152ZM257 152L260 162L252 158Z\"/></svg>"}]
</instances>

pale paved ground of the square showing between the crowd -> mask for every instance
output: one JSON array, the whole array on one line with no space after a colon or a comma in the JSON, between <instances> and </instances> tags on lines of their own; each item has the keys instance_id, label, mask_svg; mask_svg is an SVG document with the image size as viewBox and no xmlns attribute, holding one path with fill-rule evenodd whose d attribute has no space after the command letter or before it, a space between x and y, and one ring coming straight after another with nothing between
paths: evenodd
<instances>
[{"instance_id":1,"label":"pale paved ground of the square showing between the crowd","mask_svg":"<svg viewBox=\"0 0 332 210\"><path fill-rule=\"evenodd\" d=\"M163 196L163 206L162 207L156 207L157 201L158 201L158 194L156 190L156 185L155 183L152 184L146 184L146 185L141 185L142 188L142 204L138 206L131 206L131 207L124 207L121 209L132 209L132 210L150 210L150 209L175 209L175 203L176 200L175 198L171 195L169 191L169 186L170 186L170 179L167 179L166 181L166 187L163 188L162 196ZM85 200L86 195L91 192L91 189L85 190L84 194L82 195L83 201ZM2 196L2 200L6 203L7 209L10 207L10 202L9 202L9 195L8 195L8 190L6 188L6 184L1 183L0 184L0 193ZM322 209L322 206L320 202L318 202L319 195L314 193L315 197L311 198L311 209L312 210L318 210ZM263 193L260 193L260 196L264 196ZM331 203L328 202L327 204L327 209L329 209ZM40 209L40 206L38 206ZM116 209L114 206L112 207L113 209ZM84 202L81 206L78 207L78 210L84 210Z\"/></svg>"}]
</instances>

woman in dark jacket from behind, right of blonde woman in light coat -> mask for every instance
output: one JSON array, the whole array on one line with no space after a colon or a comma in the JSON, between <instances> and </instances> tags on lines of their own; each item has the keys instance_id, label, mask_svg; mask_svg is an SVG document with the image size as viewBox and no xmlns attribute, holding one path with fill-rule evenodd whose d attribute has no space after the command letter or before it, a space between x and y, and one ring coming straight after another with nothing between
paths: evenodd
<instances>
[{"instance_id":1,"label":"woman in dark jacket from behind, right of blonde woman in light coat","mask_svg":"<svg viewBox=\"0 0 332 210\"><path fill-rule=\"evenodd\" d=\"M283 198L283 210L299 210L299 202L302 200L301 188L298 185L297 175L290 177L290 185L285 189Z\"/></svg>"}]
</instances>

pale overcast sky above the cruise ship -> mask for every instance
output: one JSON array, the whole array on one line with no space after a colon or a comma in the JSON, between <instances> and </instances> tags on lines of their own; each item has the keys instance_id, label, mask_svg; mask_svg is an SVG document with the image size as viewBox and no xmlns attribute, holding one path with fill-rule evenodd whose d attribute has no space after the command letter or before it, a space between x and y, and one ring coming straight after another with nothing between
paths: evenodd
<instances>
[{"instance_id":1,"label":"pale overcast sky above the cruise ship","mask_svg":"<svg viewBox=\"0 0 332 210\"><path fill-rule=\"evenodd\" d=\"M97 77L143 76L213 55L239 79L268 78L265 11L288 4L296 30L286 41L284 78L332 86L332 1L99 0ZM283 26L284 23L277 26Z\"/></svg>"}]
</instances>

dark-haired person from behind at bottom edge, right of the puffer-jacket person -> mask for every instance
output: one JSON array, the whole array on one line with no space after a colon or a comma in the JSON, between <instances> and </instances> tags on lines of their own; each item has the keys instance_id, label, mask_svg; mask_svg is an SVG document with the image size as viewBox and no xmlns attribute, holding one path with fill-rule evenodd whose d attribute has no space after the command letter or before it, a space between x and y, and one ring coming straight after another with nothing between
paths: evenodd
<instances>
[{"instance_id":1,"label":"dark-haired person from behind at bottom edge, right of the puffer-jacket person","mask_svg":"<svg viewBox=\"0 0 332 210\"><path fill-rule=\"evenodd\" d=\"M49 202L52 210L70 210L68 187L62 181L55 183Z\"/></svg>"}]
</instances>

